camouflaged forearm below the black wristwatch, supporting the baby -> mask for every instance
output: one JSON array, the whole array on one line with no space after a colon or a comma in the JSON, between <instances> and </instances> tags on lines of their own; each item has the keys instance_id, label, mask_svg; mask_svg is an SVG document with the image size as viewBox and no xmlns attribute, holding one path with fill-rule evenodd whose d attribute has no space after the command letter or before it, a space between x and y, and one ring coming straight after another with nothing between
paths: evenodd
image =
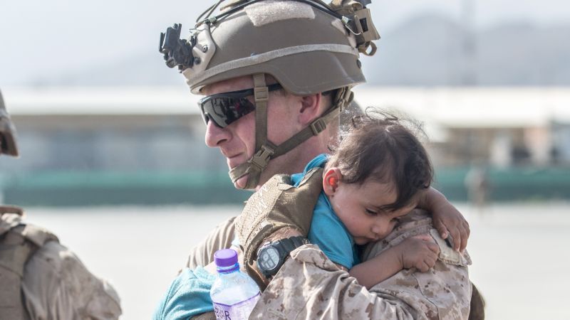
<instances>
[{"instance_id":1,"label":"camouflaged forearm below the black wristwatch, supporting the baby","mask_svg":"<svg viewBox=\"0 0 570 320\"><path fill-rule=\"evenodd\" d=\"M395 299L368 292L316 245L291 252L250 319L425 319Z\"/></svg>"}]
</instances>

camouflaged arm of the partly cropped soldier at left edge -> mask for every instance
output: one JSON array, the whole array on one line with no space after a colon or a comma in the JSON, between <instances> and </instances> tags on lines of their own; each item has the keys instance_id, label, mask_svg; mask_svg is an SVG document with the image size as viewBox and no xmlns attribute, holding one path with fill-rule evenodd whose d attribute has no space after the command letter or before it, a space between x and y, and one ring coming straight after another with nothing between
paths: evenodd
<instances>
[{"instance_id":1,"label":"camouflaged arm of the partly cropped soldier at left edge","mask_svg":"<svg viewBox=\"0 0 570 320\"><path fill-rule=\"evenodd\" d=\"M115 289L55 241L39 248L26 264L22 292L31 319L114 320L121 314Z\"/></svg>"}]
</instances>

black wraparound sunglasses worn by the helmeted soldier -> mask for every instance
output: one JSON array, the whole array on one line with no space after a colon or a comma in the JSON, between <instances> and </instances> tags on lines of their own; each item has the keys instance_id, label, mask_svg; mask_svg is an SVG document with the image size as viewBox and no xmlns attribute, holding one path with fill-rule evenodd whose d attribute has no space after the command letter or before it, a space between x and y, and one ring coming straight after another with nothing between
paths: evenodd
<instances>
[{"instance_id":1,"label":"black wraparound sunglasses worn by the helmeted soldier","mask_svg":"<svg viewBox=\"0 0 570 320\"><path fill-rule=\"evenodd\" d=\"M279 83L268 85L268 91L282 89ZM253 89L223 92L203 97L198 101L204 123L212 120L220 128L225 128L232 122L255 110L253 102L247 97L254 95Z\"/></svg>"}]
</instances>

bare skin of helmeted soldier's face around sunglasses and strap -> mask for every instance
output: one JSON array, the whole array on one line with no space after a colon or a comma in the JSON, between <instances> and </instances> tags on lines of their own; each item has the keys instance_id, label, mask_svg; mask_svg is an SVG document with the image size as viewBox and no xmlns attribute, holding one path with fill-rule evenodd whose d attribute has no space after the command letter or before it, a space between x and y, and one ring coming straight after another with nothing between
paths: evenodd
<instances>
[{"instance_id":1,"label":"bare skin of helmeted soldier's face around sunglasses and strap","mask_svg":"<svg viewBox=\"0 0 570 320\"><path fill-rule=\"evenodd\" d=\"M268 83L269 84L269 83ZM222 92L252 89L254 87L251 76L233 78L216 82L204 88L205 95L214 95ZM253 97L248 97L253 102ZM282 92L270 92L267 104L267 137L270 142L279 145L292 137L301 129L296 119L298 97ZM251 159L255 152L255 111L244 115L227 127L217 127L209 121L206 127L205 142L209 147L217 147L227 159L227 166L232 169ZM266 182L271 176L286 173L289 170L289 158L294 153L284 154L269 161L269 165L261 174L259 184ZM292 173L292 172L291 172ZM239 178L234 186L244 188L248 176Z\"/></svg>"}]
</instances>

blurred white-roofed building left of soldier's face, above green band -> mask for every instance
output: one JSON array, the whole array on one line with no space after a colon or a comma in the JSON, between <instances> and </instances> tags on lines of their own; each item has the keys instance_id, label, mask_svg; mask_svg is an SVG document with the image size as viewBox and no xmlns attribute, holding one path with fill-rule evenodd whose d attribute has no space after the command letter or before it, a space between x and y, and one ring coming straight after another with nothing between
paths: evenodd
<instances>
[{"instance_id":1,"label":"blurred white-roofed building left of soldier's face, above green band","mask_svg":"<svg viewBox=\"0 0 570 320\"><path fill-rule=\"evenodd\" d=\"M3 90L21 159L11 170L219 169L196 97L161 87Z\"/></svg>"}]
</instances>

